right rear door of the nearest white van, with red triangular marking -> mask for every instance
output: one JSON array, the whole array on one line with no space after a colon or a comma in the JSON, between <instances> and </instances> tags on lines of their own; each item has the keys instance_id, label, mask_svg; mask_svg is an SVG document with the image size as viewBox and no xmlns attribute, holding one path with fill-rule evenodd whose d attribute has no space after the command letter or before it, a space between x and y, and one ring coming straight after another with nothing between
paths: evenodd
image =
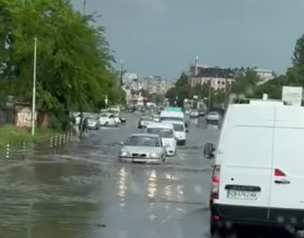
<instances>
[{"instance_id":1,"label":"right rear door of the nearest white van, with red triangular marking","mask_svg":"<svg viewBox=\"0 0 304 238\"><path fill-rule=\"evenodd\" d=\"M304 108L276 110L270 218L304 225Z\"/></svg>"}]
</instances>

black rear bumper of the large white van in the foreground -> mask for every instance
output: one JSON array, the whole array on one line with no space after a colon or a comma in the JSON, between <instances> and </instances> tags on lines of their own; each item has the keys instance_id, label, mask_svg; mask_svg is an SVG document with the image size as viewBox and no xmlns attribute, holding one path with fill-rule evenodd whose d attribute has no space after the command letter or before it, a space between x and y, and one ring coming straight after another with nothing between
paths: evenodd
<instances>
[{"instance_id":1,"label":"black rear bumper of the large white van in the foreground","mask_svg":"<svg viewBox=\"0 0 304 238\"><path fill-rule=\"evenodd\" d=\"M223 224L284 227L287 224L304 229L304 210L220 205L210 202L211 221ZM216 219L214 219L216 217Z\"/></svg>"}]
</instances>

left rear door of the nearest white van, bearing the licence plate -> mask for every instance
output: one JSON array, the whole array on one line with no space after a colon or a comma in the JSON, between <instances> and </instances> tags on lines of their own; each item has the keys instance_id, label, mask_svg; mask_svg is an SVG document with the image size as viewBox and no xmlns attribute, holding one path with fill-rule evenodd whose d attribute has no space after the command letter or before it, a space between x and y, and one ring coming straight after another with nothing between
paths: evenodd
<instances>
[{"instance_id":1,"label":"left rear door of the nearest white van, bearing the licence plate","mask_svg":"<svg viewBox=\"0 0 304 238\"><path fill-rule=\"evenodd\" d=\"M232 105L218 145L220 213L267 219L275 106Z\"/></svg>"}]
</instances>

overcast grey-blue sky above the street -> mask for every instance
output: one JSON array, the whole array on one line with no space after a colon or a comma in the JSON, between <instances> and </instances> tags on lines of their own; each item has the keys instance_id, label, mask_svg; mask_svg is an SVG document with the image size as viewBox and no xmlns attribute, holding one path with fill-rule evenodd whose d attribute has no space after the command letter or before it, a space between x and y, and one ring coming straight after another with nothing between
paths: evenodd
<instances>
[{"instance_id":1,"label":"overcast grey-blue sky above the street","mask_svg":"<svg viewBox=\"0 0 304 238\"><path fill-rule=\"evenodd\" d=\"M200 64L284 73L304 33L303 0L86 1L116 60L140 76L177 77L196 54ZM72 2L82 11L83 0Z\"/></svg>"}]
</instances>

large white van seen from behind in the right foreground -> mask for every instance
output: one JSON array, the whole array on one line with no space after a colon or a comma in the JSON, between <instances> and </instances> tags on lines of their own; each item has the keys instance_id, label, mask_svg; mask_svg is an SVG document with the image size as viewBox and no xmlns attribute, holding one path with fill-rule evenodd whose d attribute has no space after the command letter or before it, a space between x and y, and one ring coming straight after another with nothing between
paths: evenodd
<instances>
[{"instance_id":1,"label":"large white van seen from behind in the right foreground","mask_svg":"<svg viewBox=\"0 0 304 238\"><path fill-rule=\"evenodd\" d=\"M304 107L256 102L228 107L215 157L211 233L218 224L304 229Z\"/></svg>"}]
</instances>

